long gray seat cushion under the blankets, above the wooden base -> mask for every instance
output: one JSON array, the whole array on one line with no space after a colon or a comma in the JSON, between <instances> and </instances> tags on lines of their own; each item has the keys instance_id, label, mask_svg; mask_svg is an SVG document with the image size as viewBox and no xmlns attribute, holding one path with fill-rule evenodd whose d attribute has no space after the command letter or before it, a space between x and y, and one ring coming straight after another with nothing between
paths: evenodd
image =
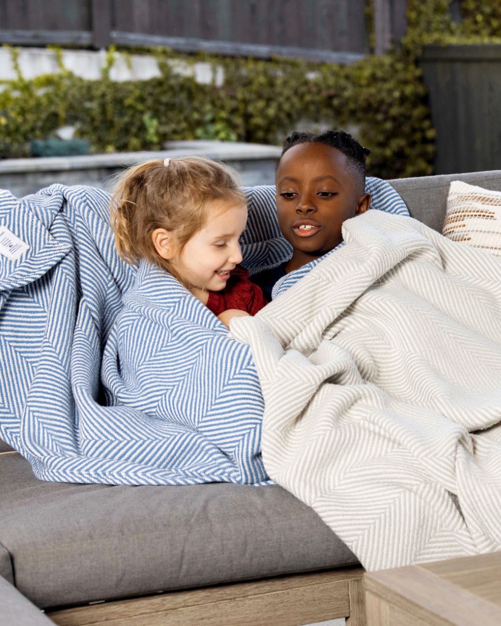
<instances>
[{"instance_id":1,"label":"long gray seat cushion under the blankets, above the wooden base","mask_svg":"<svg viewBox=\"0 0 501 626\"><path fill-rule=\"evenodd\" d=\"M279 486L105 486L37 480L0 455L0 543L39 607L356 563Z\"/></svg>"}]
</instances>

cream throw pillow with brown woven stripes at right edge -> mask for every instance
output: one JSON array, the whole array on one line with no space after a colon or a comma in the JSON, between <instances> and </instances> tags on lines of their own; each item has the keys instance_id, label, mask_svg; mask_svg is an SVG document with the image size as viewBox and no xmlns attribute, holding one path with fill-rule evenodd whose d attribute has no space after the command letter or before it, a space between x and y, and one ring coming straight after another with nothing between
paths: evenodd
<instances>
[{"instance_id":1,"label":"cream throw pillow with brown woven stripes at right edge","mask_svg":"<svg viewBox=\"0 0 501 626\"><path fill-rule=\"evenodd\" d=\"M501 192L454 180L442 234L501 257Z\"/></svg>"}]
</instances>

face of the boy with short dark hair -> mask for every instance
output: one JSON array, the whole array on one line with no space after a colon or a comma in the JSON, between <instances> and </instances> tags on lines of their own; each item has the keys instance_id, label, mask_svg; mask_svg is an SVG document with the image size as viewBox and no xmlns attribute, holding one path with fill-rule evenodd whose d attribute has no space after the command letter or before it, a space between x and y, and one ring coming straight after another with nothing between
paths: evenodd
<instances>
[{"instance_id":1,"label":"face of the boy with short dark hair","mask_svg":"<svg viewBox=\"0 0 501 626\"><path fill-rule=\"evenodd\" d=\"M277 169L277 213L282 235L294 248L296 269L340 244L344 220L369 208L370 195L346 167L346 156L323 143L300 143Z\"/></svg>"}]
</instances>

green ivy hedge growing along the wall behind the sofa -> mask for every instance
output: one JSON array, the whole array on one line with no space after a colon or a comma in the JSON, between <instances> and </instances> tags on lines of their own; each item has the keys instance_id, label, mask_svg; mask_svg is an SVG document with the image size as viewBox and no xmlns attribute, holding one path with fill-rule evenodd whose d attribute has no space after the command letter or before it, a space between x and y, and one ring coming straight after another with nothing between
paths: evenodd
<instances>
[{"instance_id":1,"label":"green ivy hedge growing along the wall behind the sofa","mask_svg":"<svg viewBox=\"0 0 501 626\"><path fill-rule=\"evenodd\" d=\"M185 55L169 49L111 48L101 80L67 71L0 81L0 157L30 156L33 140L63 125L93 152L157 150L165 141L214 139L281 143L292 130L344 128L371 148L369 173L381 178L432 173L435 131L426 103L418 56L426 43L501 41L501 1L462 0L454 21L448 0L411 0L408 30L384 56L351 65L296 60ZM368 1L368 23L371 24ZM161 76L113 82L117 55L157 56ZM200 85L173 71L168 61L209 61L224 82Z\"/></svg>"}]
</instances>

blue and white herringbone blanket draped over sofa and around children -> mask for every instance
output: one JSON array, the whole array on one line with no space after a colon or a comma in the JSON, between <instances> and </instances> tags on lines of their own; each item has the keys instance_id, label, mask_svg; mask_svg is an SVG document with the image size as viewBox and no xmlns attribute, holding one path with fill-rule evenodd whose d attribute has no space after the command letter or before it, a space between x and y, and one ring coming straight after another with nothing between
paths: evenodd
<instances>
[{"instance_id":1,"label":"blue and white herringbone blanket draped over sofa and around children","mask_svg":"<svg viewBox=\"0 0 501 626\"><path fill-rule=\"evenodd\" d=\"M368 188L376 208L406 212L387 183ZM272 267L290 255L274 188L248 195L244 259ZM249 346L170 275L120 259L109 199L63 185L0 192L0 227L29 246L0 253L0 438L44 480L263 483Z\"/></svg>"}]
</instances>

